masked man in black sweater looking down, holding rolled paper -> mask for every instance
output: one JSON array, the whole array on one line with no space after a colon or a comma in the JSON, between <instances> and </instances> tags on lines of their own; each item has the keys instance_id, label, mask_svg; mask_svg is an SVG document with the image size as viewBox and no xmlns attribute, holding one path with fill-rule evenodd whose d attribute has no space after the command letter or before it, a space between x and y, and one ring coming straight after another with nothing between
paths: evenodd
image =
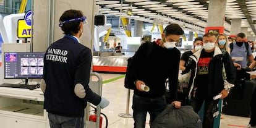
<instances>
[{"instance_id":1,"label":"masked man in black sweater looking down, holding rolled paper","mask_svg":"<svg viewBox=\"0 0 256 128\"><path fill-rule=\"evenodd\" d=\"M181 102L176 101L181 53L174 46L183 34L182 28L172 23L164 28L160 45L143 43L135 53L129 66L130 76L137 88L134 90L132 102L135 128L145 127L147 113L150 114L151 124L156 116L166 108L164 98L166 79L169 79L169 89L171 90L171 100L168 103L174 103L176 108L181 107ZM148 52L150 52L149 56L147 56ZM147 59L145 60L145 58ZM144 92L142 85L147 85L150 90Z\"/></svg>"}]
</instances>

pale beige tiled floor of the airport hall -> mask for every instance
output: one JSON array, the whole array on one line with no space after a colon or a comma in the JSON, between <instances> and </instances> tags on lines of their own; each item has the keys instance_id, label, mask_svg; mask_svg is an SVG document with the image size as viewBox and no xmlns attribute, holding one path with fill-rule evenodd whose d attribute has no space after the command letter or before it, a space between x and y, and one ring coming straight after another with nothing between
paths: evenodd
<instances>
[{"instance_id":1,"label":"pale beige tiled floor of the airport hall","mask_svg":"<svg viewBox=\"0 0 256 128\"><path fill-rule=\"evenodd\" d=\"M113 79L120 76L121 74L100 74L103 81ZM93 78L95 80L95 78ZM101 109L101 113L106 114L108 117L108 128L132 128L134 125L133 118L119 117L118 114L126 114L127 105L127 93L128 90L124 88L124 78L114 80L113 82L103 84L102 96L110 101L107 108ZM130 91L130 105L129 113L132 114L131 103L132 103L133 91ZM149 116L147 116L146 128L149 128ZM245 127L249 122L249 117L238 117L224 115L224 119L221 119L221 128L236 128ZM105 119L103 119L103 128L105 127Z\"/></svg>"}]
</instances>

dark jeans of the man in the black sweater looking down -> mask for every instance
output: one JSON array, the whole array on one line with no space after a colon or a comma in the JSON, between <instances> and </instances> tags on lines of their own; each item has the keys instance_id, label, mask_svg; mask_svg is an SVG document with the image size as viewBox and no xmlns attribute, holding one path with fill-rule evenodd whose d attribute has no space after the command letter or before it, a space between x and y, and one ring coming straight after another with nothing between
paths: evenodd
<instances>
[{"instance_id":1,"label":"dark jeans of the man in the black sweater looking down","mask_svg":"<svg viewBox=\"0 0 256 128\"><path fill-rule=\"evenodd\" d=\"M134 128L145 128L147 112L150 114L151 124L166 106L167 104L164 96L145 98L134 94L132 101Z\"/></svg>"}]
</instances>

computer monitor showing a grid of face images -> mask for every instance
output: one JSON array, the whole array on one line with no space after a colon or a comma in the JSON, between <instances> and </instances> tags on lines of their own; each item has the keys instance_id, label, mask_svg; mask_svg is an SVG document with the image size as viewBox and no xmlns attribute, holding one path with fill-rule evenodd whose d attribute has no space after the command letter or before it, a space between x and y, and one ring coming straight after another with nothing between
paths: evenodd
<instances>
[{"instance_id":1,"label":"computer monitor showing a grid of face images","mask_svg":"<svg viewBox=\"0 0 256 128\"><path fill-rule=\"evenodd\" d=\"M4 79L41 79L43 77L43 58L41 52L5 52Z\"/></svg>"}]
</instances>

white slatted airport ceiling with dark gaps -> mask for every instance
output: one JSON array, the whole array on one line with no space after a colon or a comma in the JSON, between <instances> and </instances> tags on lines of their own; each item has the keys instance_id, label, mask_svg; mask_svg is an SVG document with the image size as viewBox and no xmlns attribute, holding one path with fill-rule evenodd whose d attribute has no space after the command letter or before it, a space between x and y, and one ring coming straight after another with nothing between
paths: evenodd
<instances>
[{"instance_id":1,"label":"white slatted airport ceiling with dark gaps","mask_svg":"<svg viewBox=\"0 0 256 128\"><path fill-rule=\"evenodd\" d=\"M200 32L207 27L208 3L209 0L96 0L101 14L148 23L179 23ZM127 15L127 9L132 9L132 15ZM224 33L228 35L232 19L242 19L241 27L248 27L255 36L256 0L227 0Z\"/></svg>"}]
</instances>

